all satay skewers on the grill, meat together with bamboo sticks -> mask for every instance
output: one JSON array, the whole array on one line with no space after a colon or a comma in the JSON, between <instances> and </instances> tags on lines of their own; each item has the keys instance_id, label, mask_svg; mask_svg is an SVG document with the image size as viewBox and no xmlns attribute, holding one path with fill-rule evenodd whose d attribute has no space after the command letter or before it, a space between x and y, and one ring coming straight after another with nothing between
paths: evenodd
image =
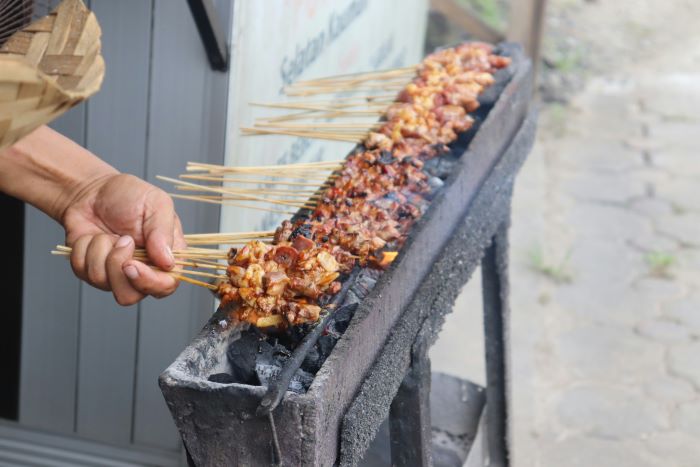
<instances>
[{"instance_id":1,"label":"all satay skewers on the grill, meat together with bamboo sticks","mask_svg":"<svg viewBox=\"0 0 700 467\"><path fill-rule=\"evenodd\" d=\"M189 247L176 253L181 269L174 274L216 289L238 320L258 327L317 321L320 303L338 293L353 268L381 270L394 261L429 204L432 184L423 165L446 154L447 145L472 126L469 113L479 106L479 94L508 64L491 46L466 43L414 67L286 89L303 98L351 92L363 97L254 104L289 113L259 119L242 129L244 135L358 146L332 162L258 167L192 162L178 179L160 177L177 189L174 198L293 215L274 232L188 236ZM146 260L141 251L137 257Z\"/></svg>"}]
</instances>

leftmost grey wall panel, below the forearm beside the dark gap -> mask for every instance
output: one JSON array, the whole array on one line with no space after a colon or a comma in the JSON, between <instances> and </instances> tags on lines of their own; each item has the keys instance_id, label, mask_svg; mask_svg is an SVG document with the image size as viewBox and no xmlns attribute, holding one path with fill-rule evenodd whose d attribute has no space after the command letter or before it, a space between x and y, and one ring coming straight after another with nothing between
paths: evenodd
<instances>
[{"instance_id":1,"label":"leftmost grey wall panel, below the forearm beside the dark gap","mask_svg":"<svg viewBox=\"0 0 700 467\"><path fill-rule=\"evenodd\" d=\"M84 144L85 107L70 110L52 126ZM80 283L66 261L49 255L63 241L58 224L27 206L19 420L70 433L75 423Z\"/></svg>"}]
</instances>

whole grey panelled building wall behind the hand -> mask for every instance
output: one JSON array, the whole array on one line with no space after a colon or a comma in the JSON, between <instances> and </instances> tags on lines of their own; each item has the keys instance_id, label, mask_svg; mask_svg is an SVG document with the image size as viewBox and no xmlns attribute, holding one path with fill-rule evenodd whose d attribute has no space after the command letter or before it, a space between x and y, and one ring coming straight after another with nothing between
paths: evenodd
<instances>
[{"instance_id":1,"label":"whole grey panelled building wall behind the hand","mask_svg":"<svg viewBox=\"0 0 700 467\"><path fill-rule=\"evenodd\" d=\"M231 2L216 3L228 30ZM228 76L209 67L187 2L92 0L90 7L102 26L105 81L53 126L155 184L188 160L222 163ZM218 229L215 207L176 208L185 232ZM184 284L172 297L122 308L49 255L63 241L59 226L27 207L20 425L179 458L157 377L211 314L211 294Z\"/></svg>"}]
</instances>

